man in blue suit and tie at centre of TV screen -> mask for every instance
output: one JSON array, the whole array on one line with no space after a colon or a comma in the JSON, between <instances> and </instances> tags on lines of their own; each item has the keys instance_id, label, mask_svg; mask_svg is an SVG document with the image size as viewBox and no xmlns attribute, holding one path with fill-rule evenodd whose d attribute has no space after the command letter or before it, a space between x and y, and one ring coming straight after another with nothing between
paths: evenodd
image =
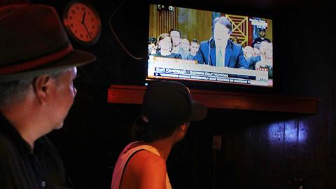
<instances>
[{"instance_id":1,"label":"man in blue suit and tie at centre of TV screen","mask_svg":"<svg viewBox=\"0 0 336 189\"><path fill-rule=\"evenodd\" d=\"M215 18L212 22L213 35L208 41L202 41L195 59L199 64L248 69L241 45L230 40L232 25L228 18Z\"/></svg>"}]
</instances>

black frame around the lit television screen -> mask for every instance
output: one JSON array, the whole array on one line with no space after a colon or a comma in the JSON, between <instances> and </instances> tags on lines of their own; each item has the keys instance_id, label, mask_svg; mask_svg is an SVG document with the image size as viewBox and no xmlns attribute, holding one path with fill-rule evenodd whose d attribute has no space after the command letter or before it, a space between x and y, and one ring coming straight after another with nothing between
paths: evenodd
<instances>
[{"instance_id":1,"label":"black frame around the lit television screen","mask_svg":"<svg viewBox=\"0 0 336 189\"><path fill-rule=\"evenodd\" d=\"M148 10L147 10L147 26L149 26L149 6L151 4L163 4L165 6L175 6L180 8L192 8L197 10L207 10L207 11L213 11L218 13L225 13L225 14L232 14L232 15L247 15L249 17L255 17L255 18L266 18L272 20L272 43L273 43L273 69L275 68L275 72L273 72L273 85L272 87L268 86L258 86L258 85L243 85L239 83L215 83L215 82L209 82L209 81L197 81L197 80L182 80L179 78L171 79L171 78L148 78L148 58L149 56L146 55L148 58L146 59L146 75L144 79L144 85L148 85L149 83L158 81L158 80L175 80L180 83L185 84L186 86L190 87L190 89L196 89L196 90L218 90L218 91L232 91L232 92L262 92L262 93L279 93L280 87L279 87L279 73L278 73L278 62L276 61L277 57L277 51L278 46L276 43L276 13L272 11L262 11L260 13L260 10L246 10L246 8L241 8L241 6L237 6L237 10L233 10L231 6L230 10L227 10L226 8L218 8L216 5L207 5L204 6L202 2L200 3L186 3L186 2L158 2L158 1L149 1L148 2ZM216 8L215 8L216 7ZM149 27L147 27L149 28ZM147 39L149 36L149 29L147 31Z\"/></svg>"}]
</instances>

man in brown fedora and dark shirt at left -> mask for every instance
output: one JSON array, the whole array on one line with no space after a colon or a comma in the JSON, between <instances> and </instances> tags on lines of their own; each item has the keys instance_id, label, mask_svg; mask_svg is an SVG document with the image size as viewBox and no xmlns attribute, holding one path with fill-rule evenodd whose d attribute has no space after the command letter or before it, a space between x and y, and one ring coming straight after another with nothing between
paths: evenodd
<instances>
[{"instance_id":1,"label":"man in brown fedora and dark shirt at left","mask_svg":"<svg viewBox=\"0 0 336 189\"><path fill-rule=\"evenodd\" d=\"M72 188L55 146L76 88L76 66L96 59L72 48L54 8L0 8L0 188Z\"/></svg>"}]
</instances>

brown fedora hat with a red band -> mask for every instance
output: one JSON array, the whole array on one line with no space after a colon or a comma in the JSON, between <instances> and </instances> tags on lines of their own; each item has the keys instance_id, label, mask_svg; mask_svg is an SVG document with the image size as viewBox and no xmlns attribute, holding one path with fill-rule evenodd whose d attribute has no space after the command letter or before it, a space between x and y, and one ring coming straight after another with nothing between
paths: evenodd
<instances>
[{"instance_id":1,"label":"brown fedora hat with a red band","mask_svg":"<svg viewBox=\"0 0 336 189\"><path fill-rule=\"evenodd\" d=\"M89 52L72 48L51 6L3 6L0 28L0 82L40 76L96 59Z\"/></svg>"}]
</instances>

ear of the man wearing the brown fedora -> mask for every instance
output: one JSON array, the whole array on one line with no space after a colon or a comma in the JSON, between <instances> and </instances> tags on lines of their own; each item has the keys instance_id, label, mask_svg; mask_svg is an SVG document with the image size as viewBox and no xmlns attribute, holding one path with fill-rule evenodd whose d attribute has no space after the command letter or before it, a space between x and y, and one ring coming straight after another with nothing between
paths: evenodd
<instances>
[{"instance_id":1,"label":"ear of the man wearing the brown fedora","mask_svg":"<svg viewBox=\"0 0 336 189\"><path fill-rule=\"evenodd\" d=\"M33 87L38 102L45 102L48 92L50 91L51 78L48 75L38 76L34 78Z\"/></svg>"}]
</instances>

